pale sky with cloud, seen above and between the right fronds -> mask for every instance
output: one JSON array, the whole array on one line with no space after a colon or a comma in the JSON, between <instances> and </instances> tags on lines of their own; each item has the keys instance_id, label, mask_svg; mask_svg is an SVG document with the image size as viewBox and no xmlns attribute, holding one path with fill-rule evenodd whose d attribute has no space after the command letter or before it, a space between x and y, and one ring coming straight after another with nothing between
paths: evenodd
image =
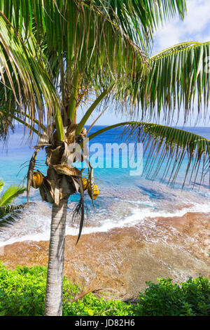
<instances>
[{"instance_id":1,"label":"pale sky with cloud, seen above and between the right fronds","mask_svg":"<svg viewBox=\"0 0 210 330\"><path fill-rule=\"evenodd\" d=\"M158 31L154 37L153 50L151 55L162 51L169 46L179 44L183 41L210 41L210 0L186 0L187 15L182 21L179 19L179 15L165 22L165 24L158 28ZM111 108L111 107L110 107ZM87 122L92 124L98 113L93 115ZM78 114L78 119L81 115ZM111 125L118 122L129 120L129 118L116 116L109 109L102 114L97 125ZM180 118L180 125L183 122L183 118ZM161 124L161 122L160 122ZM207 121L200 121L199 126L206 126ZM188 122L188 126L193 126L194 123Z\"/></svg>"}]
</instances>

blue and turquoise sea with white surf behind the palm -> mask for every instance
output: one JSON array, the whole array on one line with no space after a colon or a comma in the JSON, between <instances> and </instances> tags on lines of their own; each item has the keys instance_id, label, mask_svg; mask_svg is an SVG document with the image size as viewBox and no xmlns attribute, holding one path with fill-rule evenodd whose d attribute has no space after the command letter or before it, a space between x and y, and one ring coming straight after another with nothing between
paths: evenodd
<instances>
[{"instance_id":1,"label":"blue and turquoise sea with white surf behind the palm","mask_svg":"<svg viewBox=\"0 0 210 330\"><path fill-rule=\"evenodd\" d=\"M103 127L95 126L90 133ZM209 128L185 127L184 129L210 139ZM127 164L132 164L129 161L132 157L131 154L120 152L119 166L117 166L117 157L114 161L112 154L106 153L106 144L123 143L124 141L120 139L121 133L123 133L123 128L106 131L90 143L92 161L98 164L98 167L94 169L94 178L99 187L99 197L95 200L93 209L90 197L85 194L87 218L83 233L107 231L113 227L141 225L144 236L149 237L150 230L160 216L183 216L189 211L210 212L210 193L207 183L200 185L198 182L193 190L190 186L181 190L187 159L183 161L174 187L167 185L167 180L162 182L161 173L155 180L149 180L145 175L131 175L134 168L127 166ZM7 145L0 143L0 179L5 183L5 188L9 185L26 185L27 166L31 154L34 152L32 146L36 144L36 141L34 140L29 147L27 138L23 140L22 136L23 130L17 126L15 133L10 133ZM134 141L130 140L130 142ZM144 166L148 155L148 152L144 152L144 146L143 154ZM36 168L42 173L46 171L44 150L38 152ZM71 210L78 200L78 194L69 198L67 234L78 234L78 223L71 221ZM24 202L26 202L26 194L15 200L15 203ZM0 233L0 246L26 239L35 241L49 239L50 204L41 202L39 191L34 188L31 188L30 202L34 202L34 204L23 211L17 223Z\"/></svg>"}]
</instances>

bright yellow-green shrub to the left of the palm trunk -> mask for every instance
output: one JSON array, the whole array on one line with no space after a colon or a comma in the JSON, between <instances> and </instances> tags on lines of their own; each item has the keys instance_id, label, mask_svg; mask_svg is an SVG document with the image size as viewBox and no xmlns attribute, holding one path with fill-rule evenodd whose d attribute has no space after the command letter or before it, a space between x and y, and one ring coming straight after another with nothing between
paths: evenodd
<instances>
[{"instance_id":1,"label":"bright yellow-green shrub to the left of the palm trunk","mask_svg":"<svg viewBox=\"0 0 210 330\"><path fill-rule=\"evenodd\" d=\"M0 264L0 315L43 315L46 270Z\"/></svg>"}]
</instances>

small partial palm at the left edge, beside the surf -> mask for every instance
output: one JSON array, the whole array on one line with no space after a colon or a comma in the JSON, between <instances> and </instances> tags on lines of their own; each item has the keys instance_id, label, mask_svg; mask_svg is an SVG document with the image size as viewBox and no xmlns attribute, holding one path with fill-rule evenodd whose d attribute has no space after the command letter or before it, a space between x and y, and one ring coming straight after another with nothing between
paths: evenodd
<instances>
[{"instance_id":1,"label":"small partial palm at the left edge, beside the surf","mask_svg":"<svg viewBox=\"0 0 210 330\"><path fill-rule=\"evenodd\" d=\"M3 181L0 180L0 192L3 188ZM25 204L12 204L14 199L25 192L25 187L11 185L0 195L0 230L14 222L20 210L25 207Z\"/></svg>"}]
</instances>

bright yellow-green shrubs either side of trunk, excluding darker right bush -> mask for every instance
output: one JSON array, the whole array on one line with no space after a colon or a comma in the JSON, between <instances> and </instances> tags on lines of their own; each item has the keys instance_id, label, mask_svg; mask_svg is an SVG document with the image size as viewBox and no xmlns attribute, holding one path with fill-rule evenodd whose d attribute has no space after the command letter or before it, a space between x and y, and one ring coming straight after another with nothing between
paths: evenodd
<instances>
[{"instance_id":1,"label":"bright yellow-green shrubs either side of trunk, excluding darker right bush","mask_svg":"<svg viewBox=\"0 0 210 330\"><path fill-rule=\"evenodd\" d=\"M0 315L43 315L46 276L46 268L40 266L19 266L11 271L0 263ZM63 315L133 315L131 304L98 300L92 293L69 302L79 290L64 277Z\"/></svg>"}]
</instances>

